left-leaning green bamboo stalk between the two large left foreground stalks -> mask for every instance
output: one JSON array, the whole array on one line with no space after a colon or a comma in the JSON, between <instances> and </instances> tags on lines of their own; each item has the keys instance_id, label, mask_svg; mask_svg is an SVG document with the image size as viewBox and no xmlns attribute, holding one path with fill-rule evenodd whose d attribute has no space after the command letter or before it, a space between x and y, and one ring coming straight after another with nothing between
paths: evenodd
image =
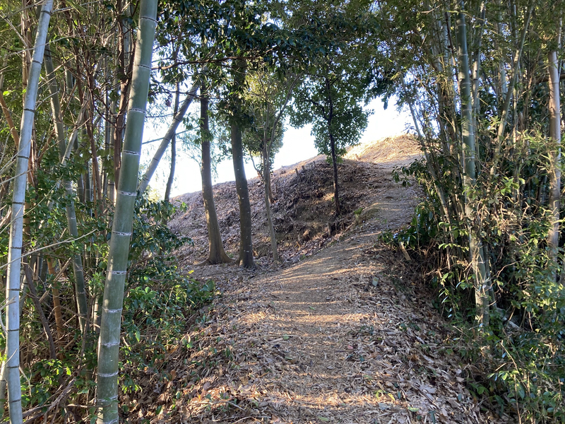
<instances>
[{"instance_id":1,"label":"left-leaning green bamboo stalk between the two large left foreground stalks","mask_svg":"<svg viewBox=\"0 0 565 424\"><path fill-rule=\"evenodd\" d=\"M47 86L49 87L49 98L51 100L51 110L53 112L53 121L55 136L59 143L59 160L64 162L66 158L66 138L64 134L63 119L61 119L61 104L59 102L59 87L55 78L55 69L51 57L51 50L47 45L45 47L45 70L47 71ZM66 206L66 220L69 234L73 238L78 237L78 228L76 225L76 211L73 199L73 184L70 181L63 181L66 194L69 196L69 205ZM81 331L86 330L86 314L88 313L88 300L86 298L86 285L83 271L83 258L81 254L73 255L73 275L75 277L76 291L76 309L78 312L78 324Z\"/></svg>"}]
</instances>

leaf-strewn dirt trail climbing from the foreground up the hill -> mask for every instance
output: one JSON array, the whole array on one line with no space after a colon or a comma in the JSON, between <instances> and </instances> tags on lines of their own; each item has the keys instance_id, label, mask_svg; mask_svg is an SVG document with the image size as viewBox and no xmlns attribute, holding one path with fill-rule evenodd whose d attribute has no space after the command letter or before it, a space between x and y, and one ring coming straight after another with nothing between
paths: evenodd
<instances>
[{"instance_id":1,"label":"leaf-strewn dirt trail climbing from the foreground up the hill","mask_svg":"<svg viewBox=\"0 0 565 424\"><path fill-rule=\"evenodd\" d=\"M443 320L404 281L412 262L377 242L402 215L402 193L391 186L370 223L286 269L198 267L222 295L171 349L169 380L140 414L156 413L152 423L507 422L465 388Z\"/></svg>"}]
</instances>

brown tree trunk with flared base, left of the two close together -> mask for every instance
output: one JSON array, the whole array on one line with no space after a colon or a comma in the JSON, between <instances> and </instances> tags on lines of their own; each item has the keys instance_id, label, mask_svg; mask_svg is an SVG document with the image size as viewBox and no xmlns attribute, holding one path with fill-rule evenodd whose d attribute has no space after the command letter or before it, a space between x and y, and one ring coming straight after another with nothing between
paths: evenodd
<instances>
[{"instance_id":1,"label":"brown tree trunk with flared base, left of the two close together","mask_svg":"<svg viewBox=\"0 0 565 424\"><path fill-rule=\"evenodd\" d=\"M208 228L208 258L203 264L229 264L232 259L227 256L222 245L222 235L218 224L218 215L214 204L212 189L212 165L210 158L210 130L208 128L208 97L202 95L200 99L200 132L202 163L200 175L202 177L202 198L204 200L204 213L206 214L206 228Z\"/></svg>"}]
</instances>

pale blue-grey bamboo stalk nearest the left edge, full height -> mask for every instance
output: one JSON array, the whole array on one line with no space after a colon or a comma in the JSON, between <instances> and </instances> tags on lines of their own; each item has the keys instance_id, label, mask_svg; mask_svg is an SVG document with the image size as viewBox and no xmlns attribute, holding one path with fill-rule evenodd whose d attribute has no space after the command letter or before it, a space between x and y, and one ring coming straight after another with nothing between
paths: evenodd
<instances>
[{"instance_id":1,"label":"pale blue-grey bamboo stalk nearest the left edge, full height","mask_svg":"<svg viewBox=\"0 0 565 424\"><path fill-rule=\"evenodd\" d=\"M23 213L25 188L28 179L28 160L30 157L31 136L35 121L35 103L37 86L40 81L41 65L53 0L47 0L42 6L37 24L35 45L28 74L27 89L23 103L23 115L20 125L20 144L16 162L16 176L13 180L12 221L8 250L8 281L6 283L6 382L8 384L8 408L10 422L22 423L21 384L20 384L20 273L23 247Z\"/></svg>"}]
</instances>

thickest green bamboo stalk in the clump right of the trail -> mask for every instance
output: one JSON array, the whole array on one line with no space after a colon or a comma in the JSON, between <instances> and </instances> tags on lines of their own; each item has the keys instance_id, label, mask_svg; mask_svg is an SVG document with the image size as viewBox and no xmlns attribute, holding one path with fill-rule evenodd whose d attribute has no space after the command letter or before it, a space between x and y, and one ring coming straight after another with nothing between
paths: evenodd
<instances>
[{"instance_id":1,"label":"thickest green bamboo stalk in the clump right of the trail","mask_svg":"<svg viewBox=\"0 0 565 424\"><path fill-rule=\"evenodd\" d=\"M483 249L480 240L480 223L477 222L475 207L476 196L476 168L475 168L475 129L472 117L471 81L469 73L469 57L467 49L467 25L463 13L463 1L458 4L457 15L458 30L458 59L459 81L461 87L461 117L463 135L463 161L465 175L463 187L465 192L465 215L469 222L469 248L472 270L475 273L475 304L477 307L476 319L481 326L489 324L489 287L487 270L484 266Z\"/></svg>"}]
</instances>

